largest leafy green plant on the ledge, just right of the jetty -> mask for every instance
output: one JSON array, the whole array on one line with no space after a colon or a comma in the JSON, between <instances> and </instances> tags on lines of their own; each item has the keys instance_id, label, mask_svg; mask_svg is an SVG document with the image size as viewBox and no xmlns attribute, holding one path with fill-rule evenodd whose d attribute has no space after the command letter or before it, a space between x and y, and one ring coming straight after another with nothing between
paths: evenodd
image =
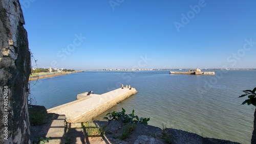
<instances>
[{"instance_id":1,"label":"largest leafy green plant on the ledge, just right of the jetty","mask_svg":"<svg viewBox=\"0 0 256 144\"><path fill-rule=\"evenodd\" d=\"M134 110L132 111L131 114L125 114L125 109L122 108L121 112L109 112L106 115L109 115L109 117L104 117L108 121L116 120L116 121L121 121L123 123L131 123L131 124L143 124L147 125L147 122L150 121L150 117L148 118L143 118L143 117L138 117L137 115L134 115ZM134 119L136 118L136 120Z\"/></svg>"}]
</instances>

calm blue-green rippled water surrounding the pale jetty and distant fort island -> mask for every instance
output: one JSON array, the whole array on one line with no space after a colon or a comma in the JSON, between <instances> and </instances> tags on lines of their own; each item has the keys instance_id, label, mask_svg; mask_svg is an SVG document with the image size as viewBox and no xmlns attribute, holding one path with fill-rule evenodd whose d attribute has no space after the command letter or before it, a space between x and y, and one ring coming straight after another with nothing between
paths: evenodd
<instances>
[{"instance_id":1,"label":"calm blue-green rippled water surrounding the pale jetty and distant fort island","mask_svg":"<svg viewBox=\"0 0 256 144\"><path fill-rule=\"evenodd\" d=\"M31 82L37 105L47 109L76 100L76 95L93 90L102 94L131 85L137 94L106 113L135 110L150 117L149 125L181 129L204 137L250 143L253 130L252 106L240 105L242 90L253 89L256 70L215 71L215 76L169 75L169 71L86 71ZM35 84L35 85L34 85ZM33 85L33 86L32 86Z\"/></svg>"}]
</instances>

